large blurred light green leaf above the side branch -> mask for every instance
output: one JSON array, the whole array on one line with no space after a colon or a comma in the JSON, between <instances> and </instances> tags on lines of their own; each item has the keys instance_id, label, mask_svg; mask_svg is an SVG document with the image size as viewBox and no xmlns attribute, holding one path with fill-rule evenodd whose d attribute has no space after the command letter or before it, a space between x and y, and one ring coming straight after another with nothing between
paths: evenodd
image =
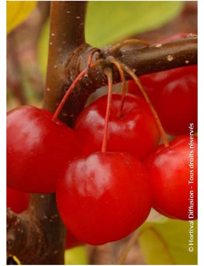
<instances>
[{"instance_id":1,"label":"large blurred light green leaf above the side branch","mask_svg":"<svg viewBox=\"0 0 204 266\"><path fill-rule=\"evenodd\" d=\"M175 18L183 4L184 1L89 1L86 42L99 47L153 30Z\"/></svg>"}]
</instances>

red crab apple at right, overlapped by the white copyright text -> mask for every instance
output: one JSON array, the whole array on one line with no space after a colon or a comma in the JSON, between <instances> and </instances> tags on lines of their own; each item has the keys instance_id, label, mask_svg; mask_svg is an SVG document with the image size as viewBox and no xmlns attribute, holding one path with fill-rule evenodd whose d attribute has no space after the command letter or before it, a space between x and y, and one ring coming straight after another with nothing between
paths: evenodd
<instances>
[{"instance_id":1,"label":"red crab apple at right, overlapped by the white copyright text","mask_svg":"<svg viewBox=\"0 0 204 266\"><path fill-rule=\"evenodd\" d=\"M155 210L170 218L186 221L197 219L197 162L197 137L194 136L192 140L189 135L177 137L167 148L159 146L145 160ZM194 217L192 214L189 217L189 206L192 203Z\"/></svg>"}]
</instances>

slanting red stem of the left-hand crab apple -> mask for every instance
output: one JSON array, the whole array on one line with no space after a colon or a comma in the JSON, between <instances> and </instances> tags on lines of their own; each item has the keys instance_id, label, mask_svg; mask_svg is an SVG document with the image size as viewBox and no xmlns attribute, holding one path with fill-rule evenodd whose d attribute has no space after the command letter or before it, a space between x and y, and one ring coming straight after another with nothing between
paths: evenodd
<instances>
[{"instance_id":1,"label":"slanting red stem of the left-hand crab apple","mask_svg":"<svg viewBox=\"0 0 204 266\"><path fill-rule=\"evenodd\" d=\"M94 63L92 63L90 65L90 68L94 68L94 67L100 65L102 62L103 62L103 59L99 59L99 60L95 61ZM62 98L60 104L58 105L58 107L57 107L57 109L56 109L56 111L55 111L55 113L53 115L52 121L55 121L57 119L59 113L62 110L62 107L64 106L64 103L67 101L67 99L68 99L69 95L71 94L72 90L74 89L74 87L76 86L76 84L80 81L80 79L84 77L85 71L86 71L86 69L82 70L81 73L72 82L71 86L69 87L69 89L65 93L65 95Z\"/></svg>"}]
</instances>

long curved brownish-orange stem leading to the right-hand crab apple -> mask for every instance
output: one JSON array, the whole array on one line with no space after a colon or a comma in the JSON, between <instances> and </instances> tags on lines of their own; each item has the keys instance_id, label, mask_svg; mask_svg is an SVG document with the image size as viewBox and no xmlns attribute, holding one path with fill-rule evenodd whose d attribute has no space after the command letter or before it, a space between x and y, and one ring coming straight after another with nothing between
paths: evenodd
<instances>
[{"instance_id":1,"label":"long curved brownish-orange stem leading to the right-hand crab apple","mask_svg":"<svg viewBox=\"0 0 204 266\"><path fill-rule=\"evenodd\" d=\"M110 60L113 60L113 59L112 59L112 57L110 59L108 57L108 60L110 61ZM117 61L115 58L114 58L114 60ZM165 131L164 131L164 128L162 126L162 123L161 123L161 121L160 121L160 119L158 117L158 114L157 114L157 112L156 112L156 110L155 110L155 108L154 108L154 106L153 106L148 94L146 93L145 89L143 88L139 78L136 76L136 74L127 65L125 65L125 64L123 64L123 63L121 63L119 61L117 61L117 62L120 64L121 68L133 78L133 80L135 81L137 86L140 88L141 93L144 95L144 97L145 97L145 99L146 99L146 101L147 101L147 103L148 103L148 105L149 105L149 107L150 107L150 109L151 109L151 111L152 111L152 113L154 115L154 118L156 119L156 122L157 122L158 127L159 127L160 134L161 134L163 142L164 142L164 146L168 147L169 143L168 143L168 140L166 138Z\"/></svg>"}]
</instances>

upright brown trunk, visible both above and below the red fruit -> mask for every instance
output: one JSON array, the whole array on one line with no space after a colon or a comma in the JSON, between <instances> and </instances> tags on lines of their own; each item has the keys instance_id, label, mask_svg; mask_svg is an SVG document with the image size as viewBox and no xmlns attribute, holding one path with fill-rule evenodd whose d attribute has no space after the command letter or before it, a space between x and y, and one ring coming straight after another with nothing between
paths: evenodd
<instances>
[{"instance_id":1,"label":"upright brown trunk, visible both above and below the red fruit","mask_svg":"<svg viewBox=\"0 0 204 266\"><path fill-rule=\"evenodd\" d=\"M45 90L44 98L47 110L57 107L64 59L84 43L85 7L86 1L51 1L47 67L51 93ZM15 255L21 264L64 265L65 237L66 228L58 214L55 193L32 194L29 209L22 214L7 210L7 253Z\"/></svg>"}]
</instances>

